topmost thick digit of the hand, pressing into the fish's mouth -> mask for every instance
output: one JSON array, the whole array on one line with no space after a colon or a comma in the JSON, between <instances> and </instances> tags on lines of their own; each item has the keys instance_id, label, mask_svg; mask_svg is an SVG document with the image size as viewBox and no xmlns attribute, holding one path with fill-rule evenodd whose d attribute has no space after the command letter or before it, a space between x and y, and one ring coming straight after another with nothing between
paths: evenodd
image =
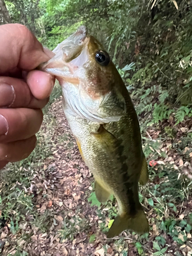
<instances>
[{"instance_id":1,"label":"topmost thick digit of the hand, pressing into the fish's mouth","mask_svg":"<svg viewBox=\"0 0 192 256\"><path fill-rule=\"evenodd\" d=\"M50 59L40 42L23 25L2 25L0 35L0 74L16 68L30 71Z\"/></svg>"}]
</instances>

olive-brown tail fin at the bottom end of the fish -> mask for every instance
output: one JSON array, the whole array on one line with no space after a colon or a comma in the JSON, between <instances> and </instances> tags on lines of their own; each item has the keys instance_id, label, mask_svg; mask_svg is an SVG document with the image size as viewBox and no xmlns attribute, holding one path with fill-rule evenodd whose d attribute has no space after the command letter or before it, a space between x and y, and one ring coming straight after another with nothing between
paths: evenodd
<instances>
[{"instance_id":1,"label":"olive-brown tail fin at the bottom end of the fish","mask_svg":"<svg viewBox=\"0 0 192 256\"><path fill-rule=\"evenodd\" d=\"M142 209L140 209L134 217L130 217L128 214L123 216L118 215L106 236L108 238L116 237L126 229L130 229L139 234L147 233L150 230L147 218Z\"/></svg>"}]
</instances>

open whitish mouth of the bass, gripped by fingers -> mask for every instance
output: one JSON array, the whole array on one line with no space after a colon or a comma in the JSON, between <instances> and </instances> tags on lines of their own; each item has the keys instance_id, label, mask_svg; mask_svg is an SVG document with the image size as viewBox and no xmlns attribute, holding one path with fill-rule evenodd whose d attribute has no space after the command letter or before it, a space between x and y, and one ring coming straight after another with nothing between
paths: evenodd
<instances>
[{"instance_id":1,"label":"open whitish mouth of the bass, gripped by fingers","mask_svg":"<svg viewBox=\"0 0 192 256\"><path fill-rule=\"evenodd\" d=\"M87 28L80 26L75 33L57 45L53 50L55 55L41 69L56 76L58 80L63 78L71 81L75 71L89 59L89 41Z\"/></svg>"}]
</instances>

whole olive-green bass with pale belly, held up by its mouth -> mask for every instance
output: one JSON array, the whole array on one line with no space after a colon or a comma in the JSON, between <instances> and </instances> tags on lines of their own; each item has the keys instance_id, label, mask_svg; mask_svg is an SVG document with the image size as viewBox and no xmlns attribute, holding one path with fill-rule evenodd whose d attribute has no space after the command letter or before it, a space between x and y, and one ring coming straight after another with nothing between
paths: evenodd
<instances>
[{"instance_id":1,"label":"whole olive-green bass with pale belly, held up by its mouth","mask_svg":"<svg viewBox=\"0 0 192 256\"><path fill-rule=\"evenodd\" d=\"M117 200L118 215L108 238L150 227L139 202L139 183L148 181L140 126L125 84L101 43L85 26L63 40L41 66L62 88L62 108L83 161L95 179L95 194Z\"/></svg>"}]
</instances>

